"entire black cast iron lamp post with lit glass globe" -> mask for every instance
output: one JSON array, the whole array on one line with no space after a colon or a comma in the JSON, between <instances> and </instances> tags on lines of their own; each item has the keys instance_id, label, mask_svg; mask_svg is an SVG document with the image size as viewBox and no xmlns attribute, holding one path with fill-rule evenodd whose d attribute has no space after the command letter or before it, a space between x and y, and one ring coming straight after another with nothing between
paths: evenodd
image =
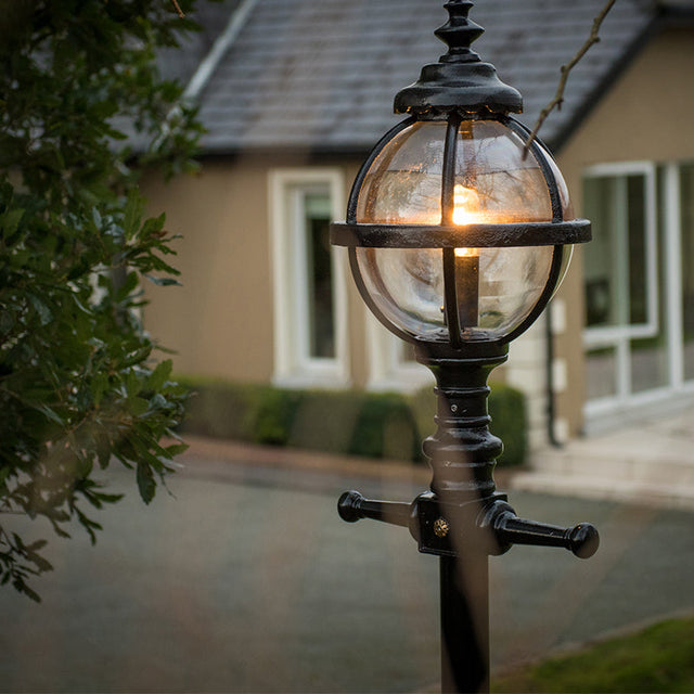
<instances>
[{"instance_id":1,"label":"entire black cast iron lamp post with lit glass globe","mask_svg":"<svg viewBox=\"0 0 694 694\"><path fill-rule=\"evenodd\" d=\"M590 222L574 219L552 156L526 145L509 115L520 94L471 50L483 34L472 5L446 3L436 35L448 53L397 94L409 117L376 144L331 230L367 305L436 376L430 490L411 504L348 491L338 510L409 527L421 552L440 556L444 692L488 691L489 555L542 544L589 557L599 544L589 524L518 518L494 487L502 442L488 427L487 377L547 306Z\"/></svg>"}]
</instances>

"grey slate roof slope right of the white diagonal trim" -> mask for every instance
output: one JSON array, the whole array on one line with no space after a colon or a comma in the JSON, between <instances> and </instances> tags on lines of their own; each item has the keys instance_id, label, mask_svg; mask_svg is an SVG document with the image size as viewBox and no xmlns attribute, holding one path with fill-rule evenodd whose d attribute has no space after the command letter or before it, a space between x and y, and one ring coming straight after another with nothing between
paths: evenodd
<instances>
[{"instance_id":1,"label":"grey slate roof slope right of the white diagonal trim","mask_svg":"<svg viewBox=\"0 0 694 694\"><path fill-rule=\"evenodd\" d=\"M479 0L474 43L518 89L531 126L560 66L588 38L605 0ZM365 151L401 116L393 99L446 47L434 29L442 0L244 0L246 15L197 92L203 150ZM202 5L201 5L202 7ZM556 146L632 55L657 15L651 0L618 0L571 70L565 101L540 136ZM218 51L219 53L219 51Z\"/></svg>"}]
</instances>

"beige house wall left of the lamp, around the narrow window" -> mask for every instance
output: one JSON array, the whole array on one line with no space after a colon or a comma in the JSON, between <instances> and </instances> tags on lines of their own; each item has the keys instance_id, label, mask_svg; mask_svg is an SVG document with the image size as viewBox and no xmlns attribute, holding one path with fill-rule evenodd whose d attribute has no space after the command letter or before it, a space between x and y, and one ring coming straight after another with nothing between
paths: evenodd
<instances>
[{"instance_id":1,"label":"beige house wall left of the lamp, around the narrow window","mask_svg":"<svg viewBox=\"0 0 694 694\"><path fill-rule=\"evenodd\" d=\"M307 166L299 158L206 159L201 172L165 183L146 177L151 215L166 213L166 229L180 234L172 265L182 287L145 287L145 326L172 357L179 374L270 382L273 375L273 306L270 277L268 172ZM332 166L321 162L320 166ZM345 198L358 165L340 163ZM348 281L350 372L368 378L364 307Z\"/></svg>"}]
</instances>

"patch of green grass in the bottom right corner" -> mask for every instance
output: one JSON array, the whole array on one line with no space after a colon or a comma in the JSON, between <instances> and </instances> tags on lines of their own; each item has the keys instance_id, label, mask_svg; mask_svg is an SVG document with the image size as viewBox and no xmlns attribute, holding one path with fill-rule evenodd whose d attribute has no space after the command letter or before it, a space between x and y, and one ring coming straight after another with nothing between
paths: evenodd
<instances>
[{"instance_id":1,"label":"patch of green grass in the bottom right corner","mask_svg":"<svg viewBox=\"0 0 694 694\"><path fill-rule=\"evenodd\" d=\"M694 617L671 619L528 666L492 692L694 692Z\"/></svg>"}]
</instances>

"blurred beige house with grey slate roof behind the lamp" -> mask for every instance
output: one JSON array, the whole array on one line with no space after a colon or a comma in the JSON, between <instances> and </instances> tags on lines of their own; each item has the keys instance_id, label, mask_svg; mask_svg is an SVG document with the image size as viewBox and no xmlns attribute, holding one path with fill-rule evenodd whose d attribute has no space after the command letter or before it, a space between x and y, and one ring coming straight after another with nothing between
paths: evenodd
<instances>
[{"instance_id":1,"label":"blurred beige house with grey slate roof behind the lamp","mask_svg":"<svg viewBox=\"0 0 694 694\"><path fill-rule=\"evenodd\" d=\"M441 54L441 4L201 4L206 31L176 69L207 128L202 170L145 189L184 236L184 286L149 290L145 313L178 372L290 387L429 382L369 314L326 228L399 119L394 95ZM522 92L525 124L603 4L479 0L471 11L486 28L474 48ZM617 0L600 35L540 132L594 241L575 250L551 312L503 371L528 395L539 444L548 430L565 440L694 402L694 2Z\"/></svg>"}]
</instances>

